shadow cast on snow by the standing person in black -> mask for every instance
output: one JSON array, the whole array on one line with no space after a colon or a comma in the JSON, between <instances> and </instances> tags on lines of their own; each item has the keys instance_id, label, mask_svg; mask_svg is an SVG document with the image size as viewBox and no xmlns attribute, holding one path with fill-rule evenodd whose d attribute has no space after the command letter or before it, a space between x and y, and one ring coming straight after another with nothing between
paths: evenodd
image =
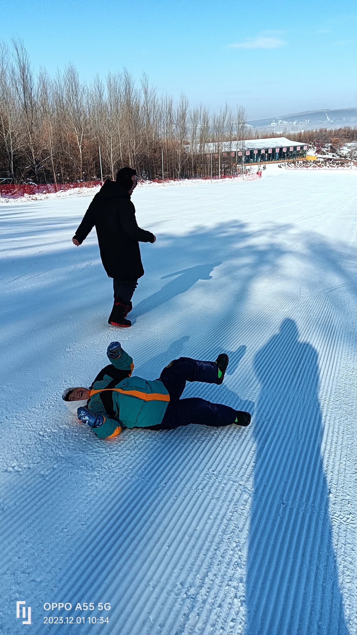
<instances>
[{"instance_id":1,"label":"shadow cast on snow by the standing person in black","mask_svg":"<svg viewBox=\"0 0 357 635\"><path fill-rule=\"evenodd\" d=\"M153 293L148 298L145 298L145 300L142 300L142 302L139 302L139 304L137 304L134 308L131 316L134 319L139 316L143 316L145 313L157 309L161 304L164 304L164 302L172 300L172 298L176 295L185 293L185 291L191 289L191 286L196 284L199 280L212 279L210 273L220 264L220 262L213 262L212 264L195 265L194 267L189 267L188 269L183 269L182 271L176 271L172 274L168 274L167 276L162 276L161 280L165 280L166 278L173 276L179 277L175 277L175 280L165 284L160 291Z\"/></svg>"}]
</instances>

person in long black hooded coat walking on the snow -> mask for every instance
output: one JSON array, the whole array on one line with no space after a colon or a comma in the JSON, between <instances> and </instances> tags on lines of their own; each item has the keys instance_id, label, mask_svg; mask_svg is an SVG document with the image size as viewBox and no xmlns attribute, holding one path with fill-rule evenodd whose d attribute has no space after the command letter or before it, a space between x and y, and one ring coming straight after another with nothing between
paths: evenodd
<instances>
[{"instance_id":1,"label":"person in long black hooded coat walking on the snow","mask_svg":"<svg viewBox=\"0 0 357 635\"><path fill-rule=\"evenodd\" d=\"M139 241L154 243L156 236L140 229L130 196L137 186L136 171L122 168L116 180L107 179L91 201L72 242L78 247L95 226L100 257L105 271L113 279L114 305L108 324L131 326L126 319L133 308L131 298L144 276Z\"/></svg>"}]
</instances>

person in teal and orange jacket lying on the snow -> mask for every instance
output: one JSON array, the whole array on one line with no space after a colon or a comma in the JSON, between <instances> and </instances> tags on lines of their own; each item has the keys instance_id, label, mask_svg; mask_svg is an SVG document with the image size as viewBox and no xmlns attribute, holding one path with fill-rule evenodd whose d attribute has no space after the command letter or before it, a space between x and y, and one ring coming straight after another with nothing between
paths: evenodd
<instances>
[{"instance_id":1,"label":"person in teal and orange jacket lying on the snow","mask_svg":"<svg viewBox=\"0 0 357 635\"><path fill-rule=\"evenodd\" d=\"M117 436L123 428L172 430L189 424L250 424L248 412L198 397L180 399L186 382L222 384L229 361L226 353L220 353L216 361L174 359L154 380L131 375L133 360L119 342L109 344L107 356L113 369L106 366L100 371L90 389L67 389L62 396L69 410L77 407L79 421L100 438ZM126 377L116 375L118 371Z\"/></svg>"}]
</instances>

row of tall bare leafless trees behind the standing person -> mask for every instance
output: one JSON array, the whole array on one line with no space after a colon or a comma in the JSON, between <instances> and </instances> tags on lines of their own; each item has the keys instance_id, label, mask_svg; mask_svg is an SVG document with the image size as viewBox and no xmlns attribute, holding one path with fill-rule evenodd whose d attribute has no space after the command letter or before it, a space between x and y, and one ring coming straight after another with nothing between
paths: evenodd
<instances>
[{"instance_id":1,"label":"row of tall bare leafless trees behind the standing person","mask_svg":"<svg viewBox=\"0 0 357 635\"><path fill-rule=\"evenodd\" d=\"M34 73L21 41L0 43L0 178L54 182L114 178L124 165L143 178L204 175L205 144L245 136L245 111L227 105L212 116L181 95L159 96L127 70L82 83L74 66L52 78ZM197 148L198 152L194 152ZM187 146L192 150L187 151ZM99 154L100 147L100 154Z\"/></svg>"}]
</instances>

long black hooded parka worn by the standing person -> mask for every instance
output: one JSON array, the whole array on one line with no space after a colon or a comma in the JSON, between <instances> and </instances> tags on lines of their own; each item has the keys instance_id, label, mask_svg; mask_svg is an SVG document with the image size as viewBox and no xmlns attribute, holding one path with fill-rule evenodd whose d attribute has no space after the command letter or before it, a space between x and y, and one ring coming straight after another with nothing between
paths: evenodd
<instances>
[{"instance_id":1,"label":"long black hooded parka worn by the standing person","mask_svg":"<svg viewBox=\"0 0 357 635\"><path fill-rule=\"evenodd\" d=\"M144 276L138 241L153 243L154 234L138 227L130 194L115 181L106 180L91 201L74 235L79 244L94 226L108 276L122 282Z\"/></svg>"}]
</instances>

